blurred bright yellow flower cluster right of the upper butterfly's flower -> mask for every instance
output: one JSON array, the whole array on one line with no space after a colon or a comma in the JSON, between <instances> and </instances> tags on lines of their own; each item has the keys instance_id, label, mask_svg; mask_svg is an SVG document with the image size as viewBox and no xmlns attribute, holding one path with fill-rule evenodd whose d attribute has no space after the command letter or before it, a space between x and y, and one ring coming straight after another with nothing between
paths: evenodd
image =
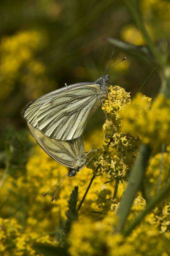
<instances>
[{"instance_id":1,"label":"blurred bright yellow flower cluster right of the upper butterfly's flower","mask_svg":"<svg viewBox=\"0 0 170 256\"><path fill-rule=\"evenodd\" d=\"M121 131L140 137L145 144L170 144L170 100L159 95L148 111L151 99L139 94L122 108Z\"/></svg>"}]
</instances>

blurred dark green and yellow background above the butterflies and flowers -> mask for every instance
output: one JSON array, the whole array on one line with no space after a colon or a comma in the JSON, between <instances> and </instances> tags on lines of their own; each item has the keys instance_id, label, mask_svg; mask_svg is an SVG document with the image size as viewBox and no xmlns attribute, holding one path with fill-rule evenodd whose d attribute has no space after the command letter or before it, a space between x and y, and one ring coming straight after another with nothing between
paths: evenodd
<instances>
[{"instance_id":1,"label":"blurred dark green and yellow background above the butterflies and flowers","mask_svg":"<svg viewBox=\"0 0 170 256\"><path fill-rule=\"evenodd\" d=\"M135 2L152 39L169 40L169 0ZM113 49L107 37L144 45L124 1L1 0L0 14L1 132L8 125L26 127L21 113L31 100L103 74ZM110 71L111 81L133 96L154 66L118 47L111 64L124 56L127 60ZM143 92L154 97L159 84L155 72ZM93 122L101 127L104 117L98 113Z\"/></svg>"}]
</instances>

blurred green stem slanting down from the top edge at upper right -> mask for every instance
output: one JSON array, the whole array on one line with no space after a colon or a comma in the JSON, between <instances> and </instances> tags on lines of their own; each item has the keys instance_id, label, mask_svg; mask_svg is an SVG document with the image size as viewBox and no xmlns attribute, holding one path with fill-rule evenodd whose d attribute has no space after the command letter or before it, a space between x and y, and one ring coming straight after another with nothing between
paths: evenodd
<instances>
[{"instance_id":1,"label":"blurred green stem slanting down from the top edge at upper right","mask_svg":"<svg viewBox=\"0 0 170 256\"><path fill-rule=\"evenodd\" d=\"M152 42L152 39L150 38L150 36L144 26L144 22L142 21L138 7L134 5L132 0L124 0L124 1L125 1L125 4L128 6L128 9L132 13L132 16L136 22L136 25L138 26L144 40L146 41L146 44L148 45L150 51L152 52L152 54L155 57L155 59L157 60L157 62L160 64L160 62L161 62L160 54L158 53L154 43Z\"/></svg>"}]
</instances>

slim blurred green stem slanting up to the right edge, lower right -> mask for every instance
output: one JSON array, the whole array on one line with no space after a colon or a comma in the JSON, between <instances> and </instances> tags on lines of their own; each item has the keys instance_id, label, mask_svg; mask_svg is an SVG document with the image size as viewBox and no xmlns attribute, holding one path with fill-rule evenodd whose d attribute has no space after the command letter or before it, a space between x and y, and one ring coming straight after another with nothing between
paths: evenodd
<instances>
[{"instance_id":1,"label":"slim blurred green stem slanting up to the right edge, lower right","mask_svg":"<svg viewBox=\"0 0 170 256\"><path fill-rule=\"evenodd\" d=\"M160 190L160 192L149 202L145 210L143 210L143 212L137 216L134 222L132 222L132 224L130 224L130 226L124 231L124 236L128 236L130 232L132 232L132 230L136 228L138 224L140 224L144 216L146 216L146 214L148 214L158 204L158 202L164 198L164 196L167 196L167 194L170 194L170 183Z\"/></svg>"}]
</instances>

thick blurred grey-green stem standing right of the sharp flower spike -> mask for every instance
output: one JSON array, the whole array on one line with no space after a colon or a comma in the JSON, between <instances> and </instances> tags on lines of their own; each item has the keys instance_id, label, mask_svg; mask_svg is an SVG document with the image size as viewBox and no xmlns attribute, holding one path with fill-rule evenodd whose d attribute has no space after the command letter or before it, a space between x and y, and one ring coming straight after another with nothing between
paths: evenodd
<instances>
[{"instance_id":1,"label":"thick blurred grey-green stem standing right of the sharp flower spike","mask_svg":"<svg viewBox=\"0 0 170 256\"><path fill-rule=\"evenodd\" d=\"M122 232L124 228L124 224L125 224L126 218L128 217L130 207L136 196L136 192L138 191L142 183L145 168L146 168L146 165L148 164L150 154L151 154L150 146L146 144L141 144L140 152L130 172L128 186L124 192L122 200L120 201L120 207L118 208L118 212L117 212L118 219L119 219L118 231L120 232Z\"/></svg>"}]
</instances>

